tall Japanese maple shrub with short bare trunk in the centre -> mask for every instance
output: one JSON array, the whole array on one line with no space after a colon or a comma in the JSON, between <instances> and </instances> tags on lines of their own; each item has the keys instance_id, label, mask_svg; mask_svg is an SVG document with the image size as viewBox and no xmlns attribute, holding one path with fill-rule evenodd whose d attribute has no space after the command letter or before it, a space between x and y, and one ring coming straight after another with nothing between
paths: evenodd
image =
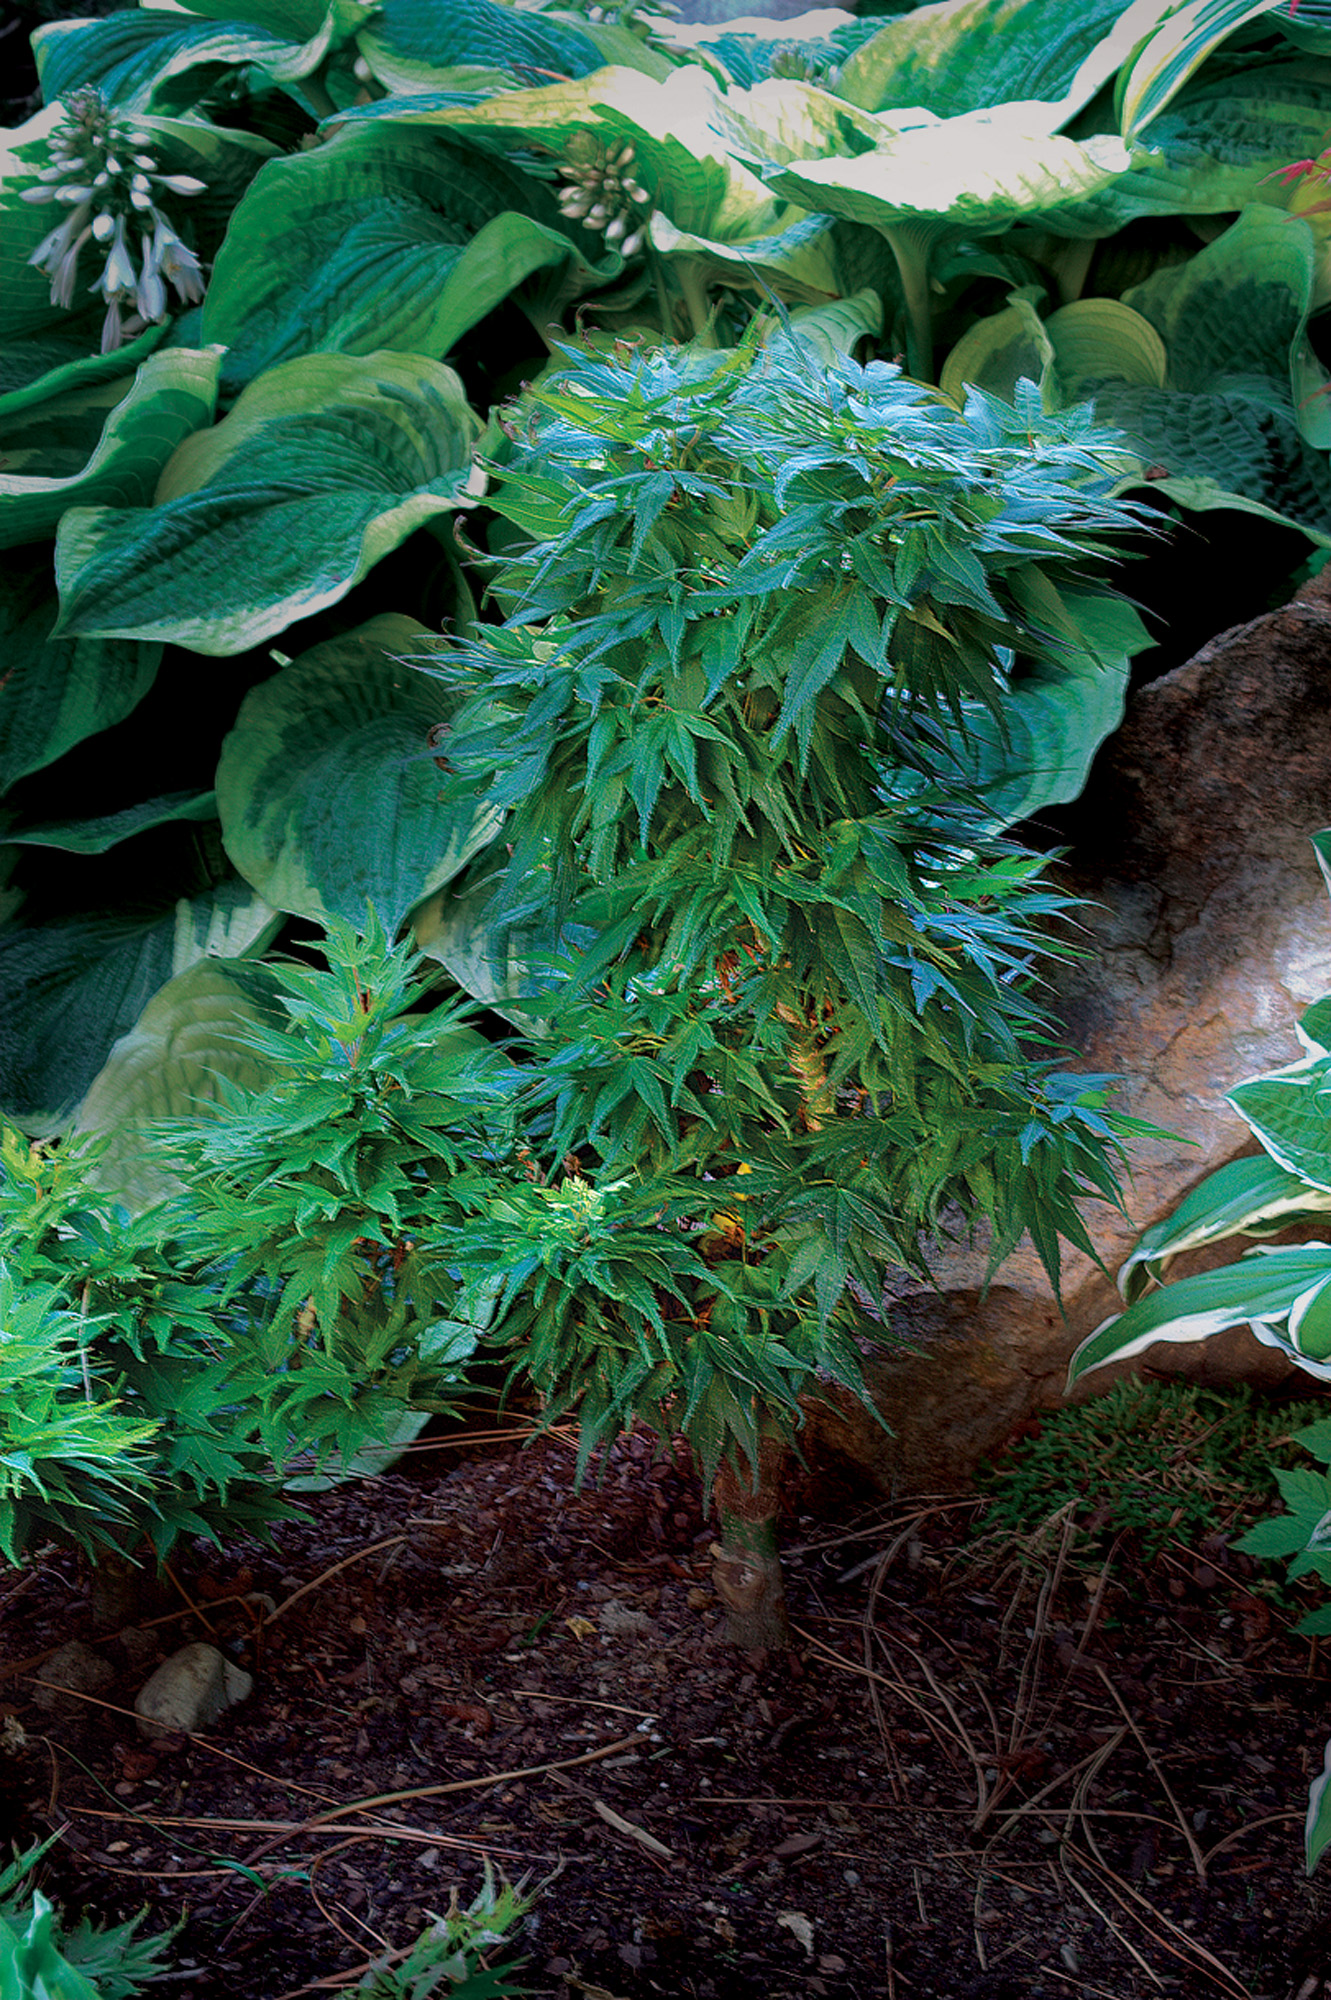
<instances>
[{"instance_id":1,"label":"tall Japanese maple shrub with short bare trunk in the centre","mask_svg":"<svg viewBox=\"0 0 1331 2000\"><path fill-rule=\"evenodd\" d=\"M779 1644L779 1462L801 1392L863 1394L883 1270L981 1224L1057 1282L1115 1196L1039 998L1065 898L963 772L969 718L1081 658L1059 580L1133 516L1087 412L959 412L793 330L566 350L506 428L508 618L428 662L442 784L506 824L422 942L544 1034L530 1178L462 1254L584 1464L689 1440L731 1636Z\"/></svg>"}]
</instances>

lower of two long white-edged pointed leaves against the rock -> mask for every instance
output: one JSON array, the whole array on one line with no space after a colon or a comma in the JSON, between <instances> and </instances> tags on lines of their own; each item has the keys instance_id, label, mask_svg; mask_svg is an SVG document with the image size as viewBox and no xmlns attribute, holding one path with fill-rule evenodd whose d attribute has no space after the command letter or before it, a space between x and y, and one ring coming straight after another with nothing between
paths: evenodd
<instances>
[{"instance_id":1,"label":"lower of two long white-edged pointed leaves against the rock","mask_svg":"<svg viewBox=\"0 0 1331 2000\"><path fill-rule=\"evenodd\" d=\"M1267 1344L1271 1322L1283 1320L1309 1286L1331 1278L1331 1244L1293 1244L1249 1250L1237 1264L1179 1278L1149 1292L1089 1334L1071 1358L1067 1388L1103 1368L1129 1360L1157 1340L1207 1340L1229 1326L1249 1324ZM1259 1332L1267 1328L1267 1332Z\"/></svg>"}]
</instances>

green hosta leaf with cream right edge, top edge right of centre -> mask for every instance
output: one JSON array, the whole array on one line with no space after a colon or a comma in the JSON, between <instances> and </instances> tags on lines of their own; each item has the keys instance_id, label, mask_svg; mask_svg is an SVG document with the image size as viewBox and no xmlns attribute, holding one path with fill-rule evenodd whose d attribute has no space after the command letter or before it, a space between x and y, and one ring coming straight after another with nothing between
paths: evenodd
<instances>
[{"instance_id":1,"label":"green hosta leaf with cream right edge, top edge right of centre","mask_svg":"<svg viewBox=\"0 0 1331 2000\"><path fill-rule=\"evenodd\" d=\"M919 104L951 118L1039 98L1061 124L1107 84L1175 0L953 0L885 22L841 64L837 94L865 110ZM1275 0L1271 0L1275 4Z\"/></svg>"}]
</instances>

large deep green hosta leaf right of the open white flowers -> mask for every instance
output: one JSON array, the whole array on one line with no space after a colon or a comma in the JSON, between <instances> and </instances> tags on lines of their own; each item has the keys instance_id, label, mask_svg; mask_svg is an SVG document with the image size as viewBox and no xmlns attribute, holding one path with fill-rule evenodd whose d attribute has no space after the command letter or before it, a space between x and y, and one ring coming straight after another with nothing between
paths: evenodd
<instances>
[{"instance_id":1,"label":"large deep green hosta leaf right of the open white flowers","mask_svg":"<svg viewBox=\"0 0 1331 2000\"><path fill-rule=\"evenodd\" d=\"M576 238L582 236L582 242ZM270 162L214 264L204 338L228 384L314 350L396 348L444 360L534 270L614 276L602 240L570 234L552 188L448 134L354 124Z\"/></svg>"}]
</instances>

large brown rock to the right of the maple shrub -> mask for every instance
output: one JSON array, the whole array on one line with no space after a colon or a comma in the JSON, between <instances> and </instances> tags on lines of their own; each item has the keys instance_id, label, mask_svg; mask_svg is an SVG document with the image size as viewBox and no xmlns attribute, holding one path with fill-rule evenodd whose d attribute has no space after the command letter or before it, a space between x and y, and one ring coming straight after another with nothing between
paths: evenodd
<instances>
[{"instance_id":1,"label":"large brown rock to the right of the maple shrub","mask_svg":"<svg viewBox=\"0 0 1331 2000\"><path fill-rule=\"evenodd\" d=\"M1075 1066L1123 1074L1119 1108L1177 1134L1133 1142L1125 1216L1087 1212L1109 1270L1205 1174L1255 1150L1223 1098L1297 1060L1293 1020L1331 990L1331 904L1309 846L1323 826L1331 576L1135 694L1077 810L1069 886L1097 908L1083 918L1087 960L1059 980ZM915 1352L867 1366L893 1436L841 1398L811 1426L815 1444L893 1492L963 1486L1021 1418L1061 1398L1073 1346L1119 1306L1077 1252L1063 1314L1029 1246L987 1296L981 1248L943 1252L935 1272L941 1294L909 1286L891 1300L893 1330ZM1247 1332L1161 1344L1133 1366L1205 1382L1289 1374ZM1101 1370L1085 1394L1113 1376Z\"/></svg>"}]
</instances>

